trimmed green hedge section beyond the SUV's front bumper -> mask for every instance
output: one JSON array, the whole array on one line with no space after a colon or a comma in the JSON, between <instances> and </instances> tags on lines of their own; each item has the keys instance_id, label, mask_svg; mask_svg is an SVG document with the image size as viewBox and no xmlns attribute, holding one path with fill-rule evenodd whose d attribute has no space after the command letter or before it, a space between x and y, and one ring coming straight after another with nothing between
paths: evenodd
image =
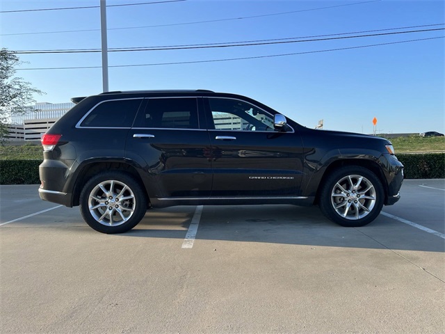
<instances>
[{"instance_id":1,"label":"trimmed green hedge section beyond the SUV's front bumper","mask_svg":"<svg viewBox=\"0 0 445 334\"><path fill-rule=\"evenodd\" d=\"M397 154L406 179L445 178L445 153Z\"/></svg>"}]
</instances>

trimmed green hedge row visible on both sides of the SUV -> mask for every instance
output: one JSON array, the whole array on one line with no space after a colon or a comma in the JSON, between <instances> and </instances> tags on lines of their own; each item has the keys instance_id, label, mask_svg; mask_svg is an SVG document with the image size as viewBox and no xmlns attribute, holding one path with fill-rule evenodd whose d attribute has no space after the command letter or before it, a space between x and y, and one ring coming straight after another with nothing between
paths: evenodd
<instances>
[{"instance_id":1,"label":"trimmed green hedge row visible on both sides of the SUV","mask_svg":"<svg viewBox=\"0 0 445 334\"><path fill-rule=\"evenodd\" d=\"M445 153L397 154L407 179L445 178ZM0 184L40 184L42 160L0 160Z\"/></svg>"}]
</instances>

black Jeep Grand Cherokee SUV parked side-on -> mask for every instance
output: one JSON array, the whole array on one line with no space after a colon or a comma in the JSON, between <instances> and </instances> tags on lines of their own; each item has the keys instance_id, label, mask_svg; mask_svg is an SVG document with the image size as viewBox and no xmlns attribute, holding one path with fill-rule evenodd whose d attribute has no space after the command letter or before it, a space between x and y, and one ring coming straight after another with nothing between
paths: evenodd
<instances>
[{"instance_id":1,"label":"black Jeep Grand Cherokee SUV parked side-on","mask_svg":"<svg viewBox=\"0 0 445 334\"><path fill-rule=\"evenodd\" d=\"M399 199L403 165L383 138L308 129L241 95L146 90L76 97L42 137L40 198L79 205L99 232L149 207L319 205L363 226Z\"/></svg>"}]
</instances>

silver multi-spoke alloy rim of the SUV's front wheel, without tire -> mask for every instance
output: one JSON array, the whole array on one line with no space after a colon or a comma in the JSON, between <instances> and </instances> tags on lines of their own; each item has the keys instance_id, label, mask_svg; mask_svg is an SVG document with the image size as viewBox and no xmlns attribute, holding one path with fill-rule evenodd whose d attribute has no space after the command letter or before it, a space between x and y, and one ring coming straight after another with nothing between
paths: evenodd
<instances>
[{"instance_id":1,"label":"silver multi-spoke alloy rim of the SUV's front wheel, without tire","mask_svg":"<svg viewBox=\"0 0 445 334\"><path fill-rule=\"evenodd\" d=\"M367 216L373 210L376 191L373 184L361 175L348 175L334 185L332 207L339 216L351 221Z\"/></svg>"}]
</instances>

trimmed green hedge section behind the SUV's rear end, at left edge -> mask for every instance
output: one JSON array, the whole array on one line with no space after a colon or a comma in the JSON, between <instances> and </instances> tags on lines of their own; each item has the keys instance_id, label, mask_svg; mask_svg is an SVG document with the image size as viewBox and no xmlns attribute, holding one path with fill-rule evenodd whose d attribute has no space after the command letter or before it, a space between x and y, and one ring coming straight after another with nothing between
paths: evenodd
<instances>
[{"instance_id":1,"label":"trimmed green hedge section behind the SUV's rear end, at left edge","mask_svg":"<svg viewBox=\"0 0 445 334\"><path fill-rule=\"evenodd\" d=\"M0 184L40 184L42 160L0 160Z\"/></svg>"}]
</instances>

